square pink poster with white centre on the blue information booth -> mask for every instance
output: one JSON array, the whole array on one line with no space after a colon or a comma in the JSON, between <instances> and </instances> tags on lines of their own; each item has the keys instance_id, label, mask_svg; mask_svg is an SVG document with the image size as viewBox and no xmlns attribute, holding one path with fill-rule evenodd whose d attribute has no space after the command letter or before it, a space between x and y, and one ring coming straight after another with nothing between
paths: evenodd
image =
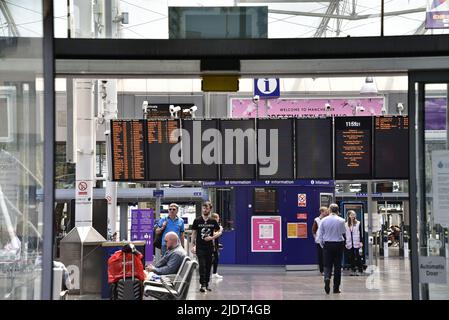
<instances>
[{"instance_id":1,"label":"square pink poster with white centre on the blue information booth","mask_svg":"<svg viewBox=\"0 0 449 320\"><path fill-rule=\"evenodd\" d=\"M281 251L281 217L253 216L251 218L251 252Z\"/></svg>"}]
</instances>

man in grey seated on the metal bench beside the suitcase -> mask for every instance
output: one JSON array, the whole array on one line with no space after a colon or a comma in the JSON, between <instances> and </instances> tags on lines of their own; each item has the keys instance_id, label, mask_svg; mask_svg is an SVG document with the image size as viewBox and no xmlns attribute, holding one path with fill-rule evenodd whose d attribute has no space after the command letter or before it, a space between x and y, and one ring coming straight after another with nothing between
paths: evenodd
<instances>
[{"instance_id":1,"label":"man in grey seated on the metal bench beside the suitcase","mask_svg":"<svg viewBox=\"0 0 449 320\"><path fill-rule=\"evenodd\" d=\"M151 278L152 273L157 275L177 273L184 257L187 255L175 232L168 232L165 235L165 243L167 245L167 251L162 258L154 266L149 265L146 267L148 279Z\"/></svg>"}]
</instances>

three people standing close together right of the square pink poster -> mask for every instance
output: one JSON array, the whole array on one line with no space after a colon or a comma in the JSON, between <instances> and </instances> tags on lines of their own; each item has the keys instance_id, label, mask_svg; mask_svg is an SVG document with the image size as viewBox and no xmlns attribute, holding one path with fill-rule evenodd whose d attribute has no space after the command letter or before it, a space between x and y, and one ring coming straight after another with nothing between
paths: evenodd
<instances>
[{"instance_id":1,"label":"three people standing close together right of the square pink poster","mask_svg":"<svg viewBox=\"0 0 449 320\"><path fill-rule=\"evenodd\" d=\"M324 290L330 293L330 281L333 272L333 292L340 293L341 268L345 252L351 266L351 275L363 274L362 247L363 232L360 221L353 210L348 210L347 220L340 217L338 205L333 203L320 208L315 218L312 233L318 252L320 273L324 275ZM346 249L346 250L345 250ZM357 273L358 271L358 273Z\"/></svg>"}]
</instances>

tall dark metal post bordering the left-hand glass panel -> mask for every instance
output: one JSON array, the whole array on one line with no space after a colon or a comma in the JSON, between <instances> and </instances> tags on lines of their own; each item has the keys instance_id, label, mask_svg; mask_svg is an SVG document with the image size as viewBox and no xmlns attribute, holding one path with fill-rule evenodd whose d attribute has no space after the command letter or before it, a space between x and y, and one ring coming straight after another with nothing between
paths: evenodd
<instances>
[{"instance_id":1,"label":"tall dark metal post bordering the left-hand glass panel","mask_svg":"<svg viewBox=\"0 0 449 320\"><path fill-rule=\"evenodd\" d=\"M41 299L53 292L53 208L55 199L55 60L53 1L43 1L44 41L44 209Z\"/></svg>"}]
</instances>

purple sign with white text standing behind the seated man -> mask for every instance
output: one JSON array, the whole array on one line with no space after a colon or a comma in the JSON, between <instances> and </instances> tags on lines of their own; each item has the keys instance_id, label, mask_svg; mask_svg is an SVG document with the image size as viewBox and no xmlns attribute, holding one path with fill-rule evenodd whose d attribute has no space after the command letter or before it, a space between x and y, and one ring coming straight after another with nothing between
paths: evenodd
<instances>
[{"instance_id":1,"label":"purple sign with white text standing behind the seated man","mask_svg":"<svg viewBox=\"0 0 449 320\"><path fill-rule=\"evenodd\" d=\"M153 209L131 210L131 241L145 241L145 263L153 261Z\"/></svg>"}]
</instances>

